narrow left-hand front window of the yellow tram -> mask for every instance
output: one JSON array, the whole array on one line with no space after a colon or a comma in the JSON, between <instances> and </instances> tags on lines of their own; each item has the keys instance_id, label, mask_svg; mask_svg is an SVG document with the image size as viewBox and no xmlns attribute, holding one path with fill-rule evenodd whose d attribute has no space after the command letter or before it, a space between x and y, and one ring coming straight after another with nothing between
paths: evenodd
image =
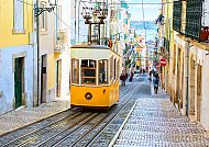
<instances>
[{"instance_id":1,"label":"narrow left-hand front window of the yellow tram","mask_svg":"<svg viewBox=\"0 0 209 147\"><path fill-rule=\"evenodd\" d=\"M79 60L72 59L72 82L79 83Z\"/></svg>"}]
</instances>

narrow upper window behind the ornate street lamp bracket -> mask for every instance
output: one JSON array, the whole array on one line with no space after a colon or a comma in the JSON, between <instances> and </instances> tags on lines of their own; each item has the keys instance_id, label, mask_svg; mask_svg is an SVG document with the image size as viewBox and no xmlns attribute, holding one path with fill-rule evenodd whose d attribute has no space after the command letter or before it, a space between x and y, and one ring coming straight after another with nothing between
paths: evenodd
<instances>
[{"instance_id":1,"label":"narrow upper window behind the ornate street lamp bracket","mask_svg":"<svg viewBox=\"0 0 209 147\"><path fill-rule=\"evenodd\" d=\"M46 8L46 2L42 1L40 4L40 8ZM46 26L47 26L47 13L44 11L41 15L40 15L40 29L41 31L46 31Z\"/></svg>"}]
</instances>

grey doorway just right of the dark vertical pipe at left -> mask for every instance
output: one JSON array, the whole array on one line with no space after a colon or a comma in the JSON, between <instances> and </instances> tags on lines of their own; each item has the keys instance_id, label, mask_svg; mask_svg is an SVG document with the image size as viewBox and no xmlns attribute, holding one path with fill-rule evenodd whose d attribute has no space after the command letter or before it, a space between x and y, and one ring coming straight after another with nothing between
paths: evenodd
<instances>
[{"instance_id":1,"label":"grey doorway just right of the dark vertical pipe at left","mask_svg":"<svg viewBox=\"0 0 209 147\"><path fill-rule=\"evenodd\" d=\"M47 55L42 55L42 68L41 68L41 103L46 103L47 91Z\"/></svg>"}]
</instances>

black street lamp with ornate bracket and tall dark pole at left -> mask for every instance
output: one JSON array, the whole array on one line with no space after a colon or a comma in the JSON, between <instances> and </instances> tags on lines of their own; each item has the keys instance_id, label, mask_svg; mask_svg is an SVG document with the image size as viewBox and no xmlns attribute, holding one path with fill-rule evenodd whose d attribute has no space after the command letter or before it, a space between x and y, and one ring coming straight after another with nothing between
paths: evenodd
<instances>
[{"instance_id":1,"label":"black street lamp with ornate bracket and tall dark pole at left","mask_svg":"<svg viewBox=\"0 0 209 147\"><path fill-rule=\"evenodd\" d=\"M54 11L54 8L57 5L58 0L48 0L50 8L40 8L40 0L36 0L36 5L34 8L35 19L36 19L36 42L37 42L37 106L40 104L40 19L38 16L47 11Z\"/></svg>"}]
</instances>

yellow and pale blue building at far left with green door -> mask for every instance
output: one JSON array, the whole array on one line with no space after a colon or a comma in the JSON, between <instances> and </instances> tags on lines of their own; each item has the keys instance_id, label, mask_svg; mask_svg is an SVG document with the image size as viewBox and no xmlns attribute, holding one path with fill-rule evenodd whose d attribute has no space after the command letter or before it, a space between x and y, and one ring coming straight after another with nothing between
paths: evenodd
<instances>
[{"instance_id":1,"label":"yellow and pale blue building at far left with green door","mask_svg":"<svg viewBox=\"0 0 209 147\"><path fill-rule=\"evenodd\" d=\"M0 1L0 114L33 106L32 0Z\"/></svg>"}]
</instances>

